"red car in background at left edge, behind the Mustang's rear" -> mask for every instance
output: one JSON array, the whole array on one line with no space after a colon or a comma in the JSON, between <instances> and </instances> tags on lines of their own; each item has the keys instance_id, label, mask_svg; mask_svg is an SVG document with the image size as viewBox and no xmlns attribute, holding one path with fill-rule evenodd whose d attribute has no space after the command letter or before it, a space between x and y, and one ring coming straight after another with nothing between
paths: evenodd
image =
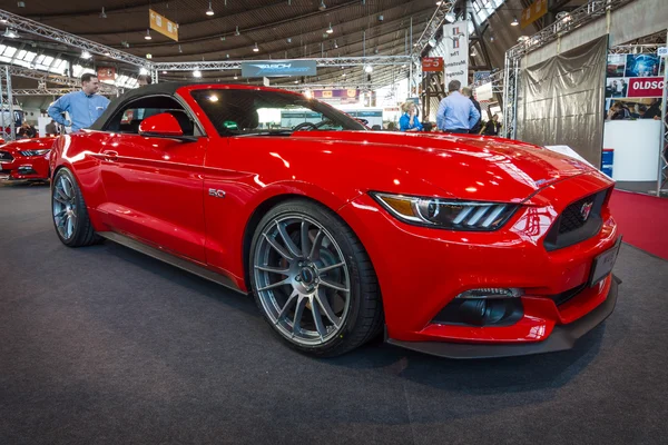
<instances>
[{"instance_id":1,"label":"red car in background at left edge, behind the Mustang's rear","mask_svg":"<svg viewBox=\"0 0 668 445\"><path fill-rule=\"evenodd\" d=\"M0 146L0 170L16 180L49 180L55 137L19 139Z\"/></svg>"}]
</instances>

